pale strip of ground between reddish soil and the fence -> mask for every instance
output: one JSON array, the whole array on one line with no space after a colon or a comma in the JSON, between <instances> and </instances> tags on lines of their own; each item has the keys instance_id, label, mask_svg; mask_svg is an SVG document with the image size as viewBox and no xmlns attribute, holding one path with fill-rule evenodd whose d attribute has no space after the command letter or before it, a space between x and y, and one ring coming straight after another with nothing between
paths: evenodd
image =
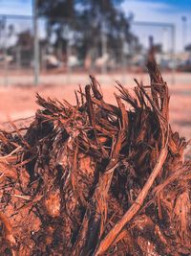
<instances>
[{"instance_id":1,"label":"pale strip of ground between reddish soil and the fence","mask_svg":"<svg viewBox=\"0 0 191 256\"><path fill-rule=\"evenodd\" d=\"M69 84L84 84L88 82L88 74L84 73L63 73L62 71L50 70L48 73L41 73L39 76L39 82L44 85L56 84L56 85L69 85ZM148 75L142 72L113 72L109 74L92 74L104 84L112 84L114 81L118 80L122 83L132 84L134 78L138 81L147 82ZM191 82L191 73L172 73L172 72L162 72L162 76L168 84L187 84ZM0 85L11 84L11 85L26 85L33 83L32 71L23 70L22 73L15 74L13 71L9 71L7 74L1 72L0 70Z\"/></svg>"}]
</instances>

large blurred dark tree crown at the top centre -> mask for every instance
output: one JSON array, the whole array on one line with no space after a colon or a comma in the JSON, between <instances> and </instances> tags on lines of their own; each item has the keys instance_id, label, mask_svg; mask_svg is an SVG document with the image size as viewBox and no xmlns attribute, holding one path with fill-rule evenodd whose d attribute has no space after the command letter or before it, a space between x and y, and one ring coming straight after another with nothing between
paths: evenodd
<instances>
[{"instance_id":1,"label":"large blurred dark tree crown at the top centre","mask_svg":"<svg viewBox=\"0 0 191 256\"><path fill-rule=\"evenodd\" d=\"M38 0L38 14L47 18L48 37L55 36L54 46L74 46L79 58L102 55L103 35L107 51L123 49L124 42L137 42L130 33L127 17L118 5L123 0ZM134 42L134 44L135 44ZM118 55L117 55L118 56Z\"/></svg>"}]
</instances>

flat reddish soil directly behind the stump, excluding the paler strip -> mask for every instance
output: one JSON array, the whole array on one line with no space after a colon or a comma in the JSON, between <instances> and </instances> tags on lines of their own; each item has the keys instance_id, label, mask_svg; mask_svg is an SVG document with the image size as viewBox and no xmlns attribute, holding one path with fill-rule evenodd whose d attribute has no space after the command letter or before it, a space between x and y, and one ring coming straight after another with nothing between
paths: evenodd
<instances>
[{"instance_id":1,"label":"flat reddish soil directly behind the stump, excluding the paler strip","mask_svg":"<svg viewBox=\"0 0 191 256\"><path fill-rule=\"evenodd\" d=\"M88 81L88 80L87 80ZM132 82L132 87L135 84ZM0 125L9 120L22 119L34 115L38 105L35 103L35 94L47 98L66 99L74 104L74 89L76 85L32 85L0 87ZM131 87L130 87L131 90ZM115 103L113 92L117 91L115 83L111 86L102 84L105 100ZM180 131L180 135L191 138L191 85L170 86L170 121L172 127Z\"/></svg>"}]
</instances>

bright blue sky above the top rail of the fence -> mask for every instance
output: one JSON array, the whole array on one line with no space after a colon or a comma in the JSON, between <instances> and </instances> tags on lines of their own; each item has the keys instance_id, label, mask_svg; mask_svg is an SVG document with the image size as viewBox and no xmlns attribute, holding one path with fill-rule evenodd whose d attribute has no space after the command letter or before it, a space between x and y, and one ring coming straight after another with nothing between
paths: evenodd
<instances>
[{"instance_id":1,"label":"bright blue sky above the top rail of the fence","mask_svg":"<svg viewBox=\"0 0 191 256\"><path fill-rule=\"evenodd\" d=\"M135 21L174 23L177 28L177 49L182 47L181 17L185 15L187 42L191 42L191 0L124 0L121 8L127 14L134 12ZM0 14L5 13L32 15L32 0L0 0Z\"/></svg>"}]
</instances>

